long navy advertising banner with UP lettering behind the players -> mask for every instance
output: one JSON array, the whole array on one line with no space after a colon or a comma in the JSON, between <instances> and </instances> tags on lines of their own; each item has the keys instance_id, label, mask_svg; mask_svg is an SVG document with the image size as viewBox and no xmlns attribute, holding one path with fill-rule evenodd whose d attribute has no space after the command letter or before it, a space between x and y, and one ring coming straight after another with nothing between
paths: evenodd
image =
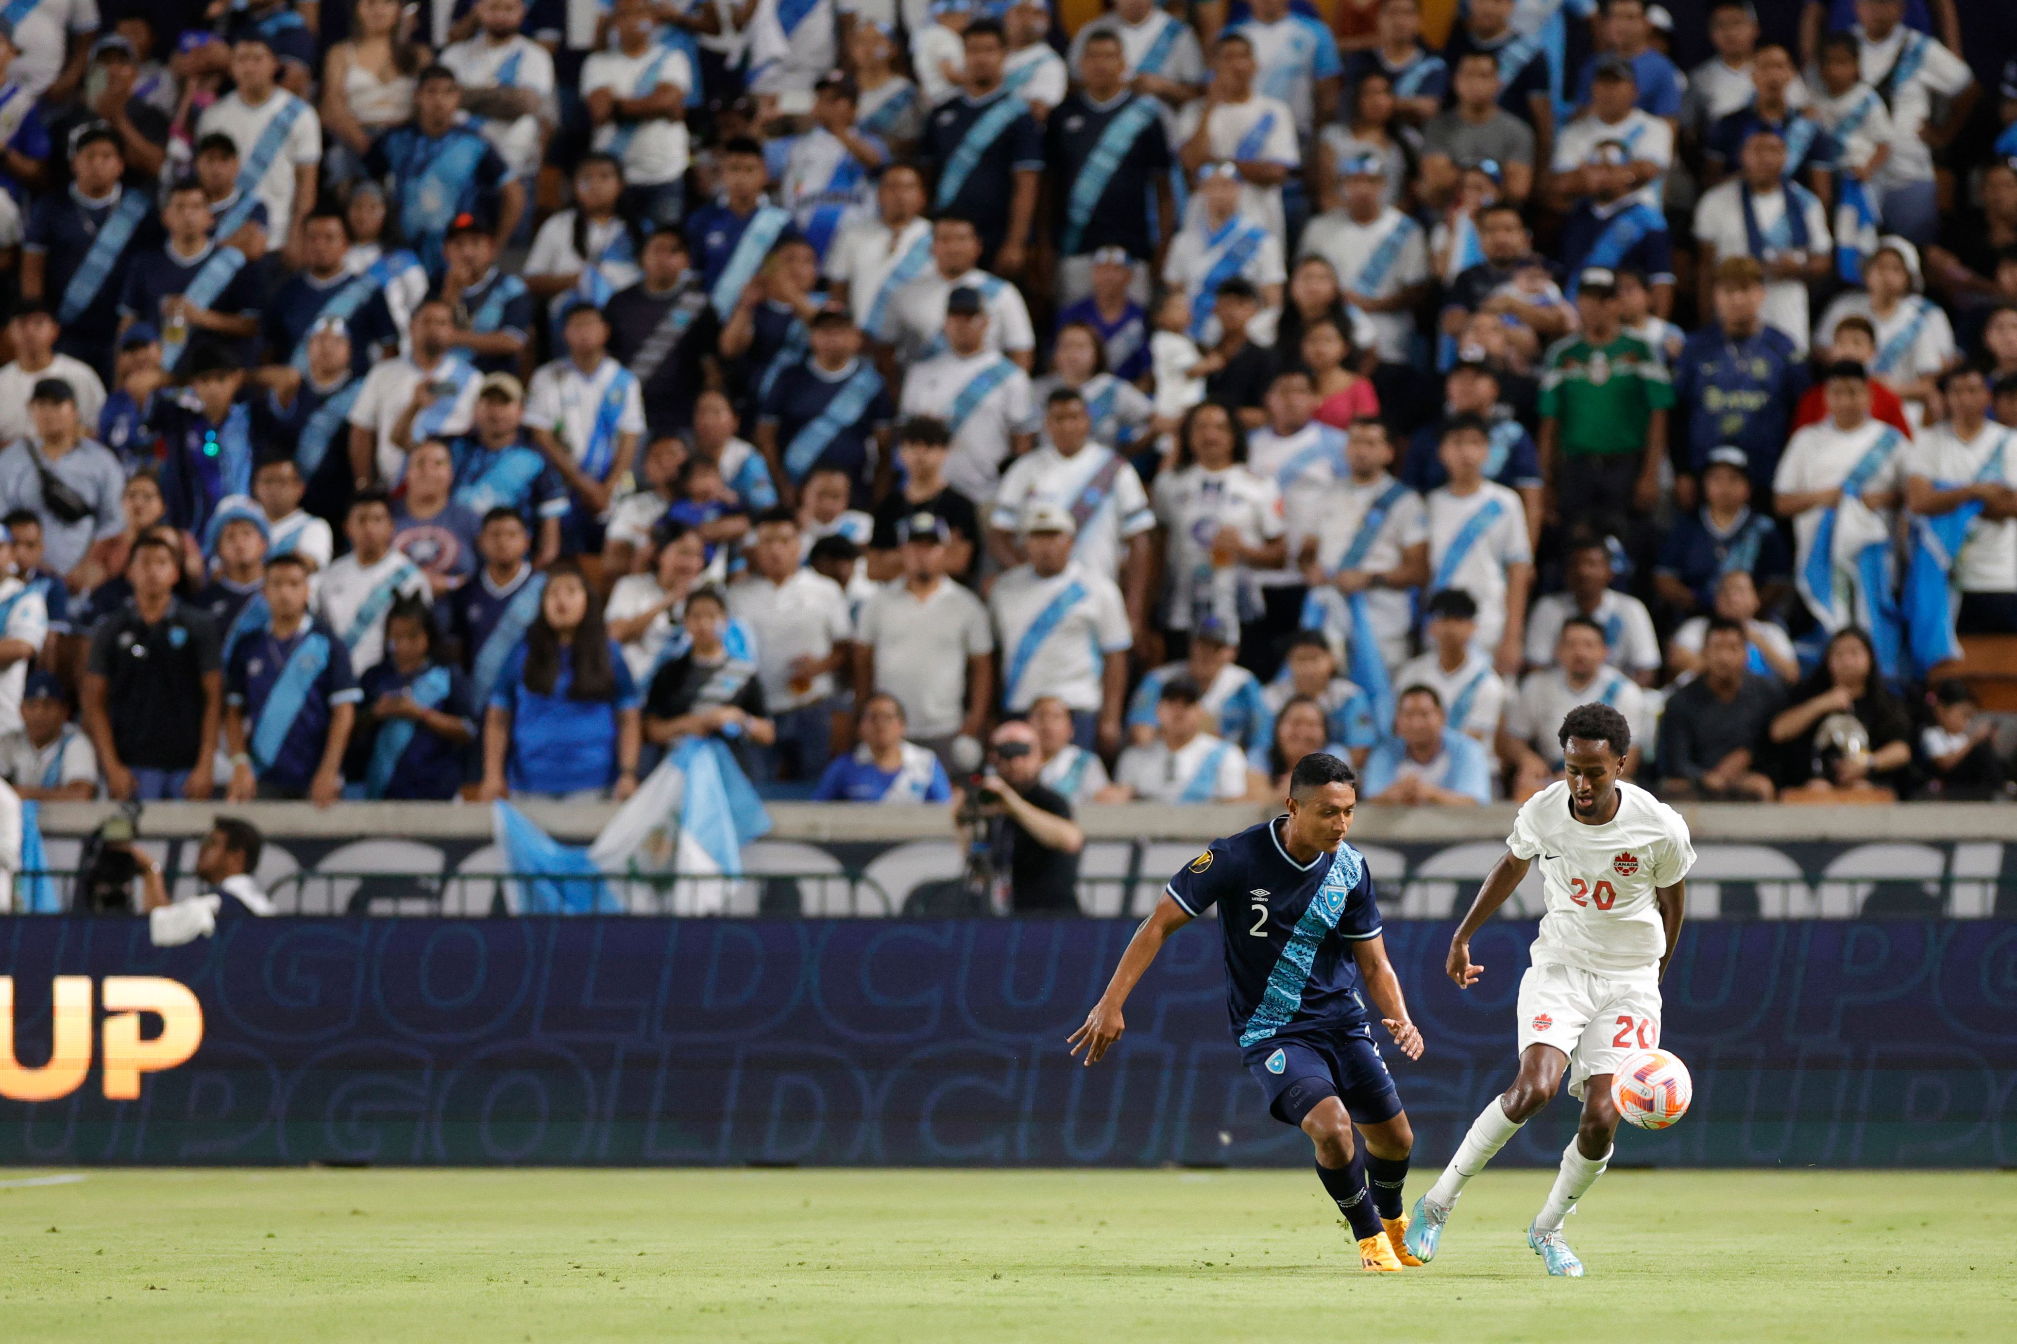
<instances>
[{"instance_id":1,"label":"long navy advertising banner with UP lettering behind the players","mask_svg":"<svg viewBox=\"0 0 2017 1344\"><path fill-rule=\"evenodd\" d=\"M0 1165L1303 1165L1188 929L1097 1068L1065 1054L1128 921L0 919ZM1428 1040L1388 1050L1418 1163L1513 1074L1531 923L1442 977L1390 923ZM2017 1163L2017 923L1692 925L1666 1036L1694 1110L1620 1163ZM1553 1165L1559 1098L1509 1161Z\"/></svg>"}]
</instances>

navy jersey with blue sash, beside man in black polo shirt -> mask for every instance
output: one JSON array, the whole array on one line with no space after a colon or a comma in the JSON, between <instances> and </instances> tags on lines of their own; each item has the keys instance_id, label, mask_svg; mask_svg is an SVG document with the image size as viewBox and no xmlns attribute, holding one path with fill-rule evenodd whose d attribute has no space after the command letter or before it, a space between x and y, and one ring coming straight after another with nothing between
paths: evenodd
<instances>
[{"instance_id":1,"label":"navy jersey with blue sash, beside man in black polo shirt","mask_svg":"<svg viewBox=\"0 0 2017 1344\"><path fill-rule=\"evenodd\" d=\"M244 713L252 770L282 794L309 792L333 709L359 699L349 649L315 619L288 639L276 639L272 627L240 639L224 669L224 703Z\"/></svg>"}]
</instances>

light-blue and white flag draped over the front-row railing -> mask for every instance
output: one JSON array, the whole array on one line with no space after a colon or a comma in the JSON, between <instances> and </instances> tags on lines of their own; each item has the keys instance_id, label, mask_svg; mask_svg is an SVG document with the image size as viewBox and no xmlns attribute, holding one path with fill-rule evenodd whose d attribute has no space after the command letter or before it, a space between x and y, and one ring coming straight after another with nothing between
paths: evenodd
<instances>
[{"instance_id":1,"label":"light-blue and white flag draped over the front-row railing","mask_svg":"<svg viewBox=\"0 0 2017 1344\"><path fill-rule=\"evenodd\" d=\"M716 915L742 877L742 846L770 832L756 790L716 737L682 742L589 848L555 842L508 802L492 806L508 870L539 875L512 881L520 915L625 913L613 885L645 877L676 879L672 913Z\"/></svg>"}]
</instances>

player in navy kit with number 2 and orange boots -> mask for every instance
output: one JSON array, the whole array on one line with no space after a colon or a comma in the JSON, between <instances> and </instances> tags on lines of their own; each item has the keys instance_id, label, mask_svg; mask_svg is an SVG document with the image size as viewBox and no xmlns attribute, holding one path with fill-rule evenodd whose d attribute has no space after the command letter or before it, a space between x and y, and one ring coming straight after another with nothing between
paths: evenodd
<instances>
[{"instance_id":1,"label":"player in navy kit with number 2 and orange boots","mask_svg":"<svg viewBox=\"0 0 2017 1344\"><path fill-rule=\"evenodd\" d=\"M1220 907L1226 1007L1240 1060L1269 1114L1317 1149L1317 1179L1359 1241L1359 1265L1398 1273L1422 1263L1402 1245L1400 1191L1414 1130L1374 1044L1366 999L1410 1060L1422 1034L1380 939L1366 856L1345 844L1357 808L1351 766L1313 752L1289 776L1289 812L1249 826L1190 860L1142 921L1071 1054L1095 1064L1128 1024L1121 1005L1172 933ZM1357 1138L1353 1140L1353 1126ZM1368 1189L1370 1183L1370 1189Z\"/></svg>"}]
</instances>

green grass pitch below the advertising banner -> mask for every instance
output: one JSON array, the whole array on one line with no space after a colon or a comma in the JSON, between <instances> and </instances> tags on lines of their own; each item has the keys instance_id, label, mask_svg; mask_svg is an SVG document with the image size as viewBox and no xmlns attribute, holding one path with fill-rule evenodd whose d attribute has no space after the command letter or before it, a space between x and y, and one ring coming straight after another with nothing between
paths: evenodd
<instances>
[{"instance_id":1,"label":"green grass pitch below the advertising banner","mask_svg":"<svg viewBox=\"0 0 2017 1344\"><path fill-rule=\"evenodd\" d=\"M0 1320L44 1340L2013 1340L2017 1175L1614 1171L1470 1185L1361 1275L1309 1173L0 1173ZM1426 1173L1408 1197L1426 1189Z\"/></svg>"}]
</instances>

